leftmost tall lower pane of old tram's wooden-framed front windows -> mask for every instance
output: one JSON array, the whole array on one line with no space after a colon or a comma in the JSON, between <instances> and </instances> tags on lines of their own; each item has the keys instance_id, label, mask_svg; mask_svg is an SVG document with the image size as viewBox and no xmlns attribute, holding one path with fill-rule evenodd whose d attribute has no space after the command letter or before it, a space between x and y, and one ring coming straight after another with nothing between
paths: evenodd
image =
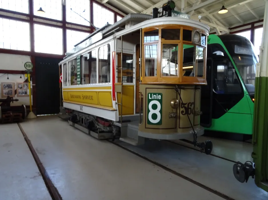
<instances>
[{"instance_id":1,"label":"leftmost tall lower pane of old tram's wooden-framed front windows","mask_svg":"<svg viewBox=\"0 0 268 200\"><path fill-rule=\"evenodd\" d=\"M145 46L145 76L156 76L157 44Z\"/></svg>"}]
</instances>

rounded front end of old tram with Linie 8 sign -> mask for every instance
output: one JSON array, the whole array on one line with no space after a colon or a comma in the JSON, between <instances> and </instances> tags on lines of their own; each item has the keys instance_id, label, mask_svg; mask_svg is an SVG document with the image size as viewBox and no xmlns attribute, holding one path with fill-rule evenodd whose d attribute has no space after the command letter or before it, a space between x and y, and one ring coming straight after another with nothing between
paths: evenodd
<instances>
[{"instance_id":1,"label":"rounded front end of old tram with Linie 8 sign","mask_svg":"<svg viewBox=\"0 0 268 200\"><path fill-rule=\"evenodd\" d=\"M142 29L140 116L138 136L158 140L185 139L207 154L212 143L198 143L204 134L200 125L201 86L206 85L206 48L209 27L176 11L154 18L170 17L167 24L153 23ZM157 14L155 14L157 12ZM175 16L176 14L176 16ZM165 15L165 16L164 16Z\"/></svg>"}]
</instances>

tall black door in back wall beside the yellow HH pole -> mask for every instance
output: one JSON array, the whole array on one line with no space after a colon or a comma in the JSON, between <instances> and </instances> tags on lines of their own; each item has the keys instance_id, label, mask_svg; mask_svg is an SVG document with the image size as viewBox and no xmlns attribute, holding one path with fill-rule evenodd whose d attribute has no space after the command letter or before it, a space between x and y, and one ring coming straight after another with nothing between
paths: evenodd
<instances>
[{"instance_id":1,"label":"tall black door in back wall beside the yellow HH pole","mask_svg":"<svg viewBox=\"0 0 268 200\"><path fill-rule=\"evenodd\" d=\"M36 114L58 114L59 58L35 57Z\"/></svg>"}]
</instances>

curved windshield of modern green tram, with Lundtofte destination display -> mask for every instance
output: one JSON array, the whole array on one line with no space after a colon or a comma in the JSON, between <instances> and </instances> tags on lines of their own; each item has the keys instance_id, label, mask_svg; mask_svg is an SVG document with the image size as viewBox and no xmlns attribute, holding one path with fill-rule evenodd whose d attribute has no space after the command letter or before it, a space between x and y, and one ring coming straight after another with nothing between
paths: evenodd
<instances>
[{"instance_id":1,"label":"curved windshield of modern green tram, with Lundtofte destination display","mask_svg":"<svg viewBox=\"0 0 268 200\"><path fill-rule=\"evenodd\" d=\"M254 52L253 44L238 35L220 35L219 38L233 58L249 95L254 95L256 64L259 57Z\"/></svg>"}]
</instances>

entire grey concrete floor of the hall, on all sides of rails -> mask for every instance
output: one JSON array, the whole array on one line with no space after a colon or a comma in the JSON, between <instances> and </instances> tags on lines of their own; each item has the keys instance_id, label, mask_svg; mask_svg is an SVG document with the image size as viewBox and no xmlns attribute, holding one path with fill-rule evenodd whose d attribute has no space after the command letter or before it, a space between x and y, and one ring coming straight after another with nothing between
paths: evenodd
<instances>
[{"instance_id":1,"label":"entire grey concrete floor of the hall, on all sides of rails","mask_svg":"<svg viewBox=\"0 0 268 200\"><path fill-rule=\"evenodd\" d=\"M223 199L131 152L86 135L57 116L38 117L21 123L21 126L63 200ZM0 180L6 180L0 182L1 198L19 199L16 196L12 198L15 193L21 199L50 199L40 175L29 180L22 178L34 177L39 171L17 124L0 125L0 133L1 152L5 148L16 152L11 157L8 150L0 154L1 168L2 160L7 160L0 176ZM165 141L149 143L147 147L118 142L236 200L268 199L268 193L257 188L252 179L249 183L237 182L233 177L233 163L226 160ZM234 144L232 147L235 147ZM16 159L18 154L20 158ZM243 157L243 154L240 155ZM236 158L240 160L242 157ZM27 174L30 172L33 176ZM7 175L12 173L17 173L17 176ZM20 180L26 183L20 184Z\"/></svg>"}]
</instances>

